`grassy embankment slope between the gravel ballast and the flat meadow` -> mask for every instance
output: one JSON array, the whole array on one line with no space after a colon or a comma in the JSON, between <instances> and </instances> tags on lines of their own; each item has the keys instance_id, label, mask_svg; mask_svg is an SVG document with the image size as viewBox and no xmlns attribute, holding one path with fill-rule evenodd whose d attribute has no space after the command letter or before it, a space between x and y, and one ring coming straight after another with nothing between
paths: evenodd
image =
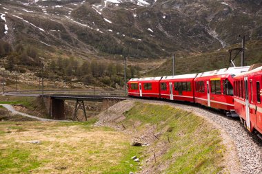
<instances>
[{"instance_id":1,"label":"grassy embankment slope between the gravel ballast and the flat meadow","mask_svg":"<svg viewBox=\"0 0 262 174\"><path fill-rule=\"evenodd\" d=\"M203 118L167 105L142 103L137 103L125 116L123 124L132 127L134 122L141 122L137 127L140 131L146 124L156 125L157 132L172 127L172 132L164 131L159 137L162 142L170 138L170 143L163 147L166 152L157 162L157 165L167 164L163 173L219 173L223 169L224 147L219 131ZM157 142L153 146L157 147Z\"/></svg>"}]
</instances>

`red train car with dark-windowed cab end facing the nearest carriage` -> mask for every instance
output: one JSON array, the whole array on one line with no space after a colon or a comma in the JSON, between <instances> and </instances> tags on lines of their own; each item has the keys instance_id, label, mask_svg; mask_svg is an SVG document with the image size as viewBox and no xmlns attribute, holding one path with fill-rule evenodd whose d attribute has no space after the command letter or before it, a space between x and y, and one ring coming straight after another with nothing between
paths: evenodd
<instances>
[{"instance_id":1,"label":"red train car with dark-windowed cab end facing the nearest carriage","mask_svg":"<svg viewBox=\"0 0 262 174\"><path fill-rule=\"evenodd\" d=\"M234 113L233 76L248 71L248 68L230 67L198 74L194 79L195 102L237 117Z\"/></svg>"}]
</instances>

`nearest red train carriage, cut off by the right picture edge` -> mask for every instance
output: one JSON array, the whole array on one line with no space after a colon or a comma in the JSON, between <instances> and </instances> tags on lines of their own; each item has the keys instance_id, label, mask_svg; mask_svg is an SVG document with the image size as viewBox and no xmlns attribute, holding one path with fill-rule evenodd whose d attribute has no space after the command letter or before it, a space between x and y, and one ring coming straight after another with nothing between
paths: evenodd
<instances>
[{"instance_id":1,"label":"nearest red train carriage, cut off by the right picture edge","mask_svg":"<svg viewBox=\"0 0 262 174\"><path fill-rule=\"evenodd\" d=\"M234 77L234 109L249 131L262 133L262 66L252 67Z\"/></svg>"}]
</instances>

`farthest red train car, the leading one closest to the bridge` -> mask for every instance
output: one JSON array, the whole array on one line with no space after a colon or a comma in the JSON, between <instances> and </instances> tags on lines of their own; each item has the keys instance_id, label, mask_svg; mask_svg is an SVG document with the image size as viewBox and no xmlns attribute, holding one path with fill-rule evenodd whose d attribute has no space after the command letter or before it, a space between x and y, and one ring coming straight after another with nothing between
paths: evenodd
<instances>
[{"instance_id":1,"label":"farthest red train car, the leading one closest to the bridge","mask_svg":"<svg viewBox=\"0 0 262 174\"><path fill-rule=\"evenodd\" d=\"M131 78L128 82L128 96L160 98L161 78Z\"/></svg>"}]
</instances>

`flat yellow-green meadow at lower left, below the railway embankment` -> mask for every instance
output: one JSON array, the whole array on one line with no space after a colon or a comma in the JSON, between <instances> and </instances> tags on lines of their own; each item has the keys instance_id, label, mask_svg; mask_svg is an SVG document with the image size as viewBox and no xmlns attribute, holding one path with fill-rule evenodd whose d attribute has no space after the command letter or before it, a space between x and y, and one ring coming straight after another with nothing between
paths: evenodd
<instances>
[{"instance_id":1,"label":"flat yellow-green meadow at lower left, below the railway embankment","mask_svg":"<svg viewBox=\"0 0 262 174\"><path fill-rule=\"evenodd\" d=\"M0 173L129 173L142 148L90 123L0 122ZM31 144L30 140L40 140Z\"/></svg>"}]
</instances>

